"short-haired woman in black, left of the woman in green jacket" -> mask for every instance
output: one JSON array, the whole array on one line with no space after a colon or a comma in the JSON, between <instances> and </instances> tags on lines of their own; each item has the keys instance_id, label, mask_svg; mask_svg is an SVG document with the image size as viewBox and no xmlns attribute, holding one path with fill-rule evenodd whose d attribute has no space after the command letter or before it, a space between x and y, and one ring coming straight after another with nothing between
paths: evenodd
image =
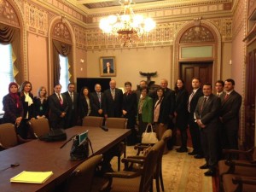
<instances>
[{"instance_id":1,"label":"short-haired woman in black, left of the woman in green jacket","mask_svg":"<svg viewBox=\"0 0 256 192\"><path fill-rule=\"evenodd\" d=\"M137 95L131 90L131 82L125 82L125 90L123 96L122 113L124 118L128 119L127 129L131 129L131 135L127 137L127 144L134 145L137 143L136 139L136 113L137 113Z\"/></svg>"}]
</instances>

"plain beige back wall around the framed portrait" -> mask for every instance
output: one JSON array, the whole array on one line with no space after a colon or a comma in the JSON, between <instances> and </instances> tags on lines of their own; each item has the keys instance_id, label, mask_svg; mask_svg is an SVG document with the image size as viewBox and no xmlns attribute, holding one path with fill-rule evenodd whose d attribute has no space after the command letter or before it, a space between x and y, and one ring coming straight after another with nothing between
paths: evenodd
<instances>
[{"instance_id":1,"label":"plain beige back wall around the framed portrait","mask_svg":"<svg viewBox=\"0 0 256 192\"><path fill-rule=\"evenodd\" d=\"M115 50L94 50L87 52L87 77L100 77L99 59L101 56L114 56L116 62L116 77L118 87L124 87L125 81L131 81L133 89L140 80L146 80L139 72L153 73L157 75L151 80L155 84L160 79L171 79L171 48L156 47L143 49L115 49Z\"/></svg>"}]
</instances>

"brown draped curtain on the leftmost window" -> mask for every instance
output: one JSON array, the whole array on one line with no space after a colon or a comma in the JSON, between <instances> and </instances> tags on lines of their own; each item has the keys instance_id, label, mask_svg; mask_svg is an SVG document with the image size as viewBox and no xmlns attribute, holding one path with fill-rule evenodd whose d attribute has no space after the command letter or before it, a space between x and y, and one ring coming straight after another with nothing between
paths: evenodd
<instances>
[{"instance_id":1,"label":"brown draped curtain on the leftmost window","mask_svg":"<svg viewBox=\"0 0 256 192\"><path fill-rule=\"evenodd\" d=\"M0 23L0 43L12 44L14 78L18 84L22 82L22 63L20 51L20 29Z\"/></svg>"}]
</instances>

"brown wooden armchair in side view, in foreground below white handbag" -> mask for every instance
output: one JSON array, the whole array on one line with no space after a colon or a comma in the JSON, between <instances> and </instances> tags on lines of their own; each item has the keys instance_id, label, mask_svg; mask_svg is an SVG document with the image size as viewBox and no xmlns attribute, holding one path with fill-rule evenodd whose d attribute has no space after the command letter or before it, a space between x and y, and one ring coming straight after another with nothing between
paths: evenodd
<instances>
[{"instance_id":1,"label":"brown wooden armchair in side view, in foreground below white handbag","mask_svg":"<svg viewBox=\"0 0 256 192\"><path fill-rule=\"evenodd\" d=\"M107 172L108 183L106 183L102 192L148 192L153 187L153 176L155 165L159 156L160 148L164 142L160 141L154 145L154 148L148 150L148 154L143 159L125 158L122 162L142 164L142 169L138 172Z\"/></svg>"}]
</instances>

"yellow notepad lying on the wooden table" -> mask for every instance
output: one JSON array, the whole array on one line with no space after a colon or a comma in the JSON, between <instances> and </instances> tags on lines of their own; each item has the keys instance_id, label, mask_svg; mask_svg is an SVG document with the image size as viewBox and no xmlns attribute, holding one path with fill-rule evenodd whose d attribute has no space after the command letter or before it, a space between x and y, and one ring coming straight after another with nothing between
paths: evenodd
<instances>
[{"instance_id":1,"label":"yellow notepad lying on the wooden table","mask_svg":"<svg viewBox=\"0 0 256 192\"><path fill-rule=\"evenodd\" d=\"M10 178L10 182L15 183L44 183L53 172L20 172L15 177Z\"/></svg>"}]
</instances>

